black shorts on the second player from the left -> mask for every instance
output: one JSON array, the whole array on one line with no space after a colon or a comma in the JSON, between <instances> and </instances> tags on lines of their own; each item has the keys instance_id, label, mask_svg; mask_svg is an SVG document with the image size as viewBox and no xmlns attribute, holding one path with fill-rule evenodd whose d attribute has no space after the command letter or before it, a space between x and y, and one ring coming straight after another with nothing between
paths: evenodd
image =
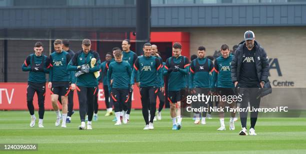
<instances>
[{"instance_id":1,"label":"black shorts on the second player from the left","mask_svg":"<svg viewBox=\"0 0 306 154\"><path fill-rule=\"evenodd\" d=\"M51 94L68 96L70 92L69 82L52 82Z\"/></svg>"}]
</instances>

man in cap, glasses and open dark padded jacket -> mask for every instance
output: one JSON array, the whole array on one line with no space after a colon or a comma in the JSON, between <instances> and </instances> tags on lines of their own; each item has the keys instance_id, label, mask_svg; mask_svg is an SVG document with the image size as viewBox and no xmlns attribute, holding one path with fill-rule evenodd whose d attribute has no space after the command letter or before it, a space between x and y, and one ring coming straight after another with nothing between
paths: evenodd
<instances>
[{"instance_id":1,"label":"man in cap, glasses and open dark padded jacket","mask_svg":"<svg viewBox=\"0 0 306 154\"><path fill-rule=\"evenodd\" d=\"M250 109L259 108L261 90L268 82L268 59L266 52L255 41L255 35L248 30L244 33L244 41L239 43L235 51L235 57L231 62L231 80L235 87L239 87L239 94L242 96L240 109L240 121L242 130L239 135L247 135L246 118L248 102ZM258 112L250 114L249 135L256 135L255 124Z\"/></svg>"}]
</instances>

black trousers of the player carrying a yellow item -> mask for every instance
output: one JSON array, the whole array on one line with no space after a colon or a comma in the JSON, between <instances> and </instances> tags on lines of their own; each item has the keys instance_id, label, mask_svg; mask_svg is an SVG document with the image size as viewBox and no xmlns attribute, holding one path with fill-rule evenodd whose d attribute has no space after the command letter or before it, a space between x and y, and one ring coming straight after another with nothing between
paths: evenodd
<instances>
[{"instance_id":1,"label":"black trousers of the player carrying a yellow item","mask_svg":"<svg viewBox=\"0 0 306 154\"><path fill-rule=\"evenodd\" d=\"M88 121L92 120L93 115L93 102L94 102L94 90L96 87L83 87L78 86L77 88L77 96L78 96L78 104L79 104L79 117L81 122L85 122L86 116L86 108L88 110Z\"/></svg>"}]
</instances>

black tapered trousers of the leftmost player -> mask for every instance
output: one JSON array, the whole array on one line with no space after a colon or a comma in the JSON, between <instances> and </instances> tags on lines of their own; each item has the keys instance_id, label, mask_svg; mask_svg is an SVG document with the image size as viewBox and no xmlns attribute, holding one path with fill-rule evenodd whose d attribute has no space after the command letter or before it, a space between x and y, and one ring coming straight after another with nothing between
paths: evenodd
<instances>
[{"instance_id":1,"label":"black tapered trousers of the leftmost player","mask_svg":"<svg viewBox=\"0 0 306 154\"><path fill-rule=\"evenodd\" d=\"M26 88L26 102L27 109L30 115L34 114L34 106L33 106L33 97L34 94L37 94L38 98L38 115L39 119L43 119L44 115L44 96L45 96L45 83L34 83L28 82Z\"/></svg>"}]
</instances>

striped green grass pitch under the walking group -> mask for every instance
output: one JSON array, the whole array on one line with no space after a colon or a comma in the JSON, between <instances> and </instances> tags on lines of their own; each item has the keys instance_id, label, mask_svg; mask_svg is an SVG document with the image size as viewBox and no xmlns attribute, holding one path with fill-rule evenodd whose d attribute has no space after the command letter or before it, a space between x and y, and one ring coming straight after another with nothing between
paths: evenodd
<instances>
[{"instance_id":1,"label":"striped green grass pitch under the walking group","mask_svg":"<svg viewBox=\"0 0 306 154\"><path fill-rule=\"evenodd\" d=\"M38 144L38 152L0 153L50 153L50 154L198 154L198 153L306 153L306 118L259 118L257 136L238 136L236 130L218 132L217 118L206 120L206 125L194 125L191 118L183 119L179 131L171 130L169 110L163 110L162 120L154 123L154 130L143 131L144 122L140 110L131 112L131 121L114 126L113 116L104 117L99 111L93 130L77 130L80 124L78 112L72 116L67 128L55 127L55 113L45 112L44 128L29 127L27 111L0 111L0 144ZM35 112L38 118L38 112ZM247 122L249 127L249 121Z\"/></svg>"}]
</instances>

